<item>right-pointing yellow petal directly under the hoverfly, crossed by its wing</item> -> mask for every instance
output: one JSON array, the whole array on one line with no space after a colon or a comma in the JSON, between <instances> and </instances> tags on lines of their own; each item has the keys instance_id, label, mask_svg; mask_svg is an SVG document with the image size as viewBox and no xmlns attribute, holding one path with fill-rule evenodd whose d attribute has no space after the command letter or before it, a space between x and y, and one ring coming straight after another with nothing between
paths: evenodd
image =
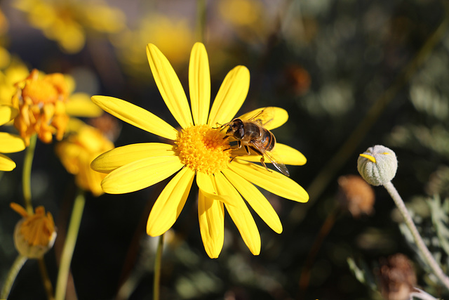
<instances>
[{"instance_id":1,"label":"right-pointing yellow petal directly under the hoverfly, crossed by its wing","mask_svg":"<svg viewBox=\"0 0 449 300\"><path fill-rule=\"evenodd\" d=\"M260 154L257 154L254 151L251 151L251 155L247 155L246 150L239 149L238 151L233 151L232 154L240 155L239 159L246 160L247 162L260 162ZM274 149L273 151L270 151L270 155L278 162L291 164L293 166L302 166L307 162L306 157L301 152L281 143L276 143L276 145L274 145ZM269 161L265 159L265 162Z\"/></svg>"}]
</instances>

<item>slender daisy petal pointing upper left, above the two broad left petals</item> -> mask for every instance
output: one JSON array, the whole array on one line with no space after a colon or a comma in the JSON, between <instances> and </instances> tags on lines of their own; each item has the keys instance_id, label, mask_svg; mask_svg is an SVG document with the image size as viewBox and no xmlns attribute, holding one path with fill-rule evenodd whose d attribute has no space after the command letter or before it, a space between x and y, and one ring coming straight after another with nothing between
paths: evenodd
<instances>
[{"instance_id":1,"label":"slender daisy petal pointing upper left, above the two broad left petals","mask_svg":"<svg viewBox=\"0 0 449 300\"><path fill-rule=\"evenodd\" d=\"M92 96L91 99L93 103L100 106L105 112L109 112L109 114L118 117L124 122L163 138L170 140L177 138L177 130L173 126L137 105L107 96Z\"/></svg>"}]
</instances>

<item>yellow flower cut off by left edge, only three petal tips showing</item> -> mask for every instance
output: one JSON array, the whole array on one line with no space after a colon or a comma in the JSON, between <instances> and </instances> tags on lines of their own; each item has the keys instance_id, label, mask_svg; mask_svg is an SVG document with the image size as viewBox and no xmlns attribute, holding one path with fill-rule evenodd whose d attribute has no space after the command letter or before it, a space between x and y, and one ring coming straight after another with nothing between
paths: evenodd
<instances>
[{"instance_id":1,"label":"yellow flower cut off by left edge, only three petal tips showing","mask_svg":"<svg viewBox=\"0 0 449 300\"><path fill-rule=\"evenodd\" d=\"M18 114L18 110L11 106L0 106L0 126L9 122ZM18 152L25 149L25 142L20 136L0 132L0 171L11 171L15 168L13 159L1 153Z\"/></svg>"}]
</instances>

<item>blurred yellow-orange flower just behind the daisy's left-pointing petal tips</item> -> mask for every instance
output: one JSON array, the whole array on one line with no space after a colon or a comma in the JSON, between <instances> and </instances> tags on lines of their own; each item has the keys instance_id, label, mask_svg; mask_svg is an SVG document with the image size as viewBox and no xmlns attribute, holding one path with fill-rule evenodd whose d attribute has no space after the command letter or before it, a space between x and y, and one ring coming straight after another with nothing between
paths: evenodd
<instances>
[{"instance_id":1,"label":"blurred yellow-orange flower just behind the daisy's left-pointing petal tips","mask_svg":"<svg viewBox=\"0 0 449 300\"><path fill-rule=\"evenodd\" d=\"M114 144L100 130L81 124L79 129L56 144L56 153L65 169L75 175L76 185L99 196L103 193L100 183L106 174L93 171L91 162L113 148Z\"/></svg>"}]
</instances>

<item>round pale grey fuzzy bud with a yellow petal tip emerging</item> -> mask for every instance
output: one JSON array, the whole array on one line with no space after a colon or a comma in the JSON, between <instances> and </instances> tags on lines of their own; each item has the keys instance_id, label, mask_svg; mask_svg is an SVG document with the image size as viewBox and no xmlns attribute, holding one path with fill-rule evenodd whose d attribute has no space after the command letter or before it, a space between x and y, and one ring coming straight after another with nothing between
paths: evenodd
<instances>
[{"instance_id":1,"label":"round pale grey fuzzy bud with a yellow petal tip emerging","mask_svg":"<svg viewBox=\"0 0 449 300\"><path fill-rule=\"evenodd\" d=\"M358 157L357 169L370 185L384 185L396 175L398 160L393 150L375 145Z\"/></svg>"}]
</instances>

